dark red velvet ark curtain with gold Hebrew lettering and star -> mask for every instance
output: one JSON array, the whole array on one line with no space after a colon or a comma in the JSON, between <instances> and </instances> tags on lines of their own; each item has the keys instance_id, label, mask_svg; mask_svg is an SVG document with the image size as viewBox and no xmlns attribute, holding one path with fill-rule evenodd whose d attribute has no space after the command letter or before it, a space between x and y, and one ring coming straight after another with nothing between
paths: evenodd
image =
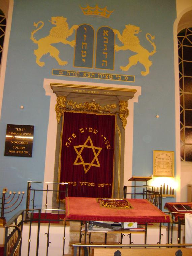
<instances>
[{"instance_id":1,"label":"dark red velvet ark curtain with gold Hebrew lettering and star","mask_svg":"<svg viewBox=\"0 0 192 256\"><path fill-rule=\"evenodd\" d=\"M115 115L64 113L59 182L69 183L68 196L112 197L114 137Z\"/></svg>"}]
</instances>

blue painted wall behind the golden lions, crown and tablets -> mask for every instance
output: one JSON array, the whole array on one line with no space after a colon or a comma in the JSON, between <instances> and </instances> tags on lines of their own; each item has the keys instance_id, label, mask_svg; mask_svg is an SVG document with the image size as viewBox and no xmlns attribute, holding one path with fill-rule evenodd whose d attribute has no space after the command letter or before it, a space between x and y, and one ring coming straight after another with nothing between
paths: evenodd
<instances>
[{"instance_id":1,"label":"blue painted wall behind the golden lions, crown and tablets","mask_svg":"<svg viewBox=\"0 0 192 256\"><path fill-rule=\"evenodd\" d=\"M107 6L114 10L108 19L83 15L79 6L87 4L99 7ZM50 98L45 96L43 79L68 79L52 75L52 69L88 71L73 67L74 49L61 43L54 45L60 51L60 58L67 60L66 66L60 66L49 54L42 57L44 67L35 62L34 49L37 44L30 40L34 29L33 23L44 22L44 27L35 34L39 40L49 34L53 27L51 17L64 16L69 27L87 23L95 32L101 26L110 26L122 33L126 24L139 26L138 37L141 45L149 52L151 44L146 40L146 33L155 35L157 53L150 57L153 62L150 73L141 76L142 64L137 64L124 72L119 66L128 63L131 51L115 53L114 70L92 69L92 72L127 74L135 76L135 83L109 81L119 85L141 86L142 95L134 105L133 138L133 175L151 175L153 169L153 150L175 151L175 89L173 23L176 18L175 0L17 0L14 1L3 104L0 123L0 190L25 190L27 180L43 181L47 125ZM69 40L75 40L75 33ZM116 44L121 45L116 36ZM79 81L106 83L105 80L79 78ZM23 105L24 109L20 109ZM156 115L160 117L155 118ZM34 143L32 158L4 156L7 124L34 125ZM126 157L126 156L125 156ZM21 205L23 207L23 205Z\"/></svg>"}]
</instances>

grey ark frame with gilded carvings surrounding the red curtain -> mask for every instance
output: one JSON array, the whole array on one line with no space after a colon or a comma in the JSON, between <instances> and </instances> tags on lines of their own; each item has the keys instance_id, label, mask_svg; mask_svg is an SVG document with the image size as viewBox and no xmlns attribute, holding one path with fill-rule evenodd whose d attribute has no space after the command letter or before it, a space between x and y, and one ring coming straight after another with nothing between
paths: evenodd
<instances>
[{"instance_id":1,"label":"grey ark frame with gilded carvings surrounding the red curtain","mask_svg":"<svg viewBox=\"0 0 192 256\"><path fill-rule=\"evenodd\" d=\"M57 96L55 111L58 126L54 182L58 182L60 134L62 130L61 119L63 112L72 110L85 111L85 113L113 113L116 114L113 197L123 198L125 126L129 125L126 119L129 115L128 100L134 97L137 90L60 83L50 83L50 86ZM56 202L54 196L53 202Z\"/></svg>"}]
</instances>

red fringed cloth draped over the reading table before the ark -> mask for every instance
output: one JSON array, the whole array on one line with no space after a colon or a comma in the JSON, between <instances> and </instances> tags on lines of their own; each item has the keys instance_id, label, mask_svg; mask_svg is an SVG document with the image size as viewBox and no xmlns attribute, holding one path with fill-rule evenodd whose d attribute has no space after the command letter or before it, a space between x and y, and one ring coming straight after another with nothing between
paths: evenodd
<instances>
[{"instance_id":1,"label":"red fringed cloth draped over the reading table before the ark","mask_svg":"<svg viewBox=\"0 0 192 256\"><path fill-rule=\"evenodd\" d=\"M66 197L64 220L114 221L145 223L169 223L170 216L164 214L146 199L127 199L132 209L101 207L97 198Z\"/></svg>"}]
</instances>

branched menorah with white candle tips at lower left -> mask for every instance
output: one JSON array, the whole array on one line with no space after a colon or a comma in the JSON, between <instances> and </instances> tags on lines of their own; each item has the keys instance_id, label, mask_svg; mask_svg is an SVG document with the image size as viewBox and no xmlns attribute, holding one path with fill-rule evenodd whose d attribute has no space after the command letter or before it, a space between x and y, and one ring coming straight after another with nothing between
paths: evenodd
<instances>
[{"instance_id":1,"label":"branched menorah with white candle tips at lower left","mask_svg":"<svg viewBox=\"0 0 192 256\"><path fill-rule=\"evenodd\" d=\"M7 193L7 188L3 189L2 192L2 198L0 197L1 200L1 217L0 217L0 226L4 226L6 224L6 218L4 217L5 213L10 213L12 211L14 211L15 209L17 209L17 207L21 204L22 200L23 200L23 196L25 194L24 191L18 191L18 192L12 192L9 191L8 192L8 196L6 197L6 193ZM20 197L20 195L22 195ZM6 209L9 209L7 212Z\"/></svg>"}]
</instances>

